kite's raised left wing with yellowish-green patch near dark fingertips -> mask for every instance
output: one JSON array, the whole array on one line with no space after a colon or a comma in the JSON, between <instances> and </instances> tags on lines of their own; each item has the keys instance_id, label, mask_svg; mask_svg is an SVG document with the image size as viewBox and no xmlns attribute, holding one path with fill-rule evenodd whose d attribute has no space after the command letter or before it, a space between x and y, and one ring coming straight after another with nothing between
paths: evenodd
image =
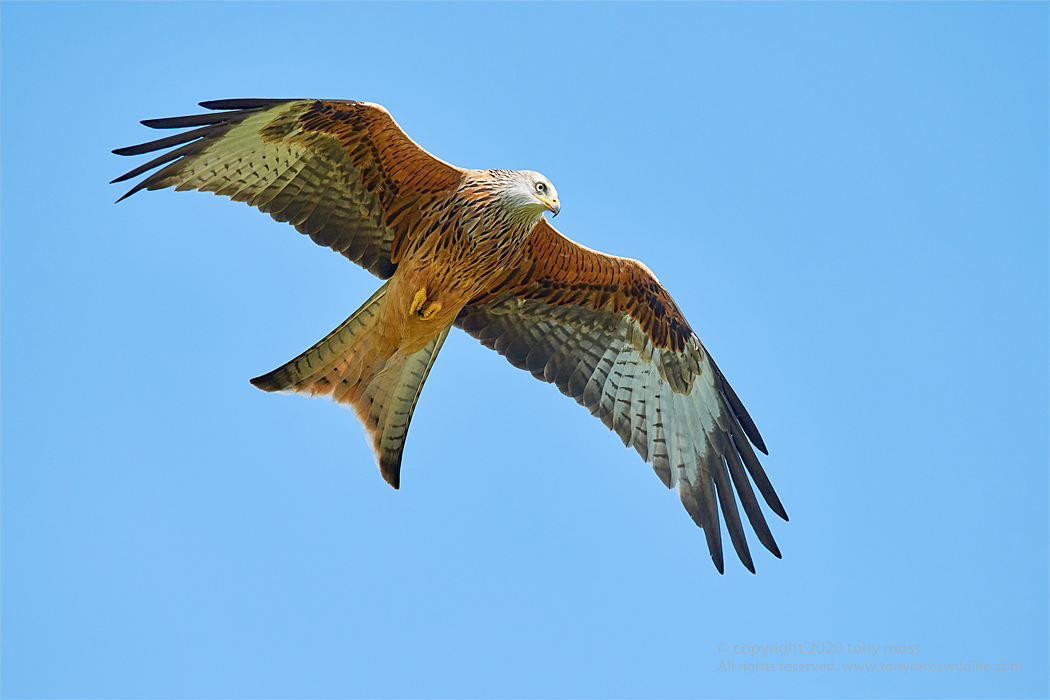
<instances>
[{"instance_id":1,"label":"kite's raised left wing with yellowish-green patch near dark fingertips","mask_svg":"<svg viewBox=\"0 0 1050 700\"><path fill-rule=\"evenodd\" d=\"M247 201L382 278L394 274L405 246L424 229L420 221L464 173L420 148L379 105L218 100L201 106L222 111L146 120L154 129L190 130L113 151L174 147L114 179L161 168L124 197L174 187Z\"/></svg>"}]
</instances>

